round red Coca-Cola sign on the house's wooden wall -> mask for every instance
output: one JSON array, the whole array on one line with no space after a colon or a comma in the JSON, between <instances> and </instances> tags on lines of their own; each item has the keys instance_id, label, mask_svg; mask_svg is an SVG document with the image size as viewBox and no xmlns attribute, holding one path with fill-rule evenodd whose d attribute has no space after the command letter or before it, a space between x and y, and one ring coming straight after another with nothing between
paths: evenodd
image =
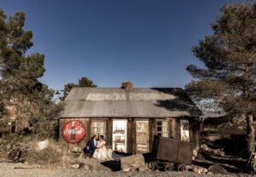
<instances>
[{"instance_id":1,"label":"round red Coca-Cola sign on the house's wooden wall","mask_svg":"<svg viewBox=\"0 0 256 177\"><path fill-rule=\"evenodd\" d=\"M62 136L69 143L78 143L83 140L84 135L84 125L80 121L71 120L63 125Z\"/></svg>"}]
</instances>

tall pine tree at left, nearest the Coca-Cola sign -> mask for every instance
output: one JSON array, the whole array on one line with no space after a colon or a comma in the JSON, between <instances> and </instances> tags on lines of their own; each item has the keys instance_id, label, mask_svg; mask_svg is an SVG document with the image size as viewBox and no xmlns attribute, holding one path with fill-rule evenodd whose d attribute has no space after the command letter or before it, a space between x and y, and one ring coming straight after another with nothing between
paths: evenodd
<instances>
[{"instance_id":1,"label":"tall pine tree at left, nearest the Coca-Cola sign","mask_svg":"<svg viewBox=\"0 0 256 177\"><path fill-rule=\"evenodd\" d=\"M44 54L26 54L33 43L32 31L24 31L24 25L24 12L8 18L0 9L0 111L4 115L6 106L15 106L17 118L25 118L40 131L50 124L52 117L45 116L49 108L57 108L52 102L54 90L38 81L45 71Z\"/></svg>"}]
</instances>

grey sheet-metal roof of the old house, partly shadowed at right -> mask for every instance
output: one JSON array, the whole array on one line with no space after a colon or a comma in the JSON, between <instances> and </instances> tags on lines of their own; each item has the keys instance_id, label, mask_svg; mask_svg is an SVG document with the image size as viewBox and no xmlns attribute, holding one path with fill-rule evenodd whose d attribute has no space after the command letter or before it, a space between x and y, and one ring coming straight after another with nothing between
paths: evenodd
<instances>
[{"instance_id":1,"label":"grey sheet-metal roof of the old house, partly shadowed at right","mask_svg":"<svg viewBox=\"0 0 256 177\"><path fill-rule=\"evenodd\" d=\"M73 88L60 117L198 117L182 88Z\"/></svg>"}]
</instances>

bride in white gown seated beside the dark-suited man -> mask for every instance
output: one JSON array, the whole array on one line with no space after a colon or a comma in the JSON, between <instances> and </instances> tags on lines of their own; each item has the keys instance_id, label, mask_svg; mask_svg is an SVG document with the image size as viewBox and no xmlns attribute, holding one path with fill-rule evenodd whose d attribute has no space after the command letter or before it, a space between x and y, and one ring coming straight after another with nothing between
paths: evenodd
<instances>
[{"instance_id":1,"label":"bride in white gown seated beside the dark-suited man","mask_svg":"<svg viewBox=\"0 0 256 177\"><path fill-rule=\"evenodd\" d=\"M104 140L103 135L100 135L99 140L96 144L96 151L94 151L92 157L96 158L99 161L120 159L119 155L114 153L111 149L106 148L106 141Z\"/></svg>"}]
</instances>

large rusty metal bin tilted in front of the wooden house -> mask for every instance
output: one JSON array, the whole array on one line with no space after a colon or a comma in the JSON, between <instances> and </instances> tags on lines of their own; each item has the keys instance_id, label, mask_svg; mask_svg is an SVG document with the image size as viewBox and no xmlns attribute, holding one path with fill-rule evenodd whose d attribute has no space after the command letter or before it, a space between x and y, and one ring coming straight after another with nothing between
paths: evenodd
<instances>
[{"instance_id":1,"label":"large rusty metal bin tilted in front of the wooden house","mask_svg":"<svg viewBox=\"0 0 256 177\"><path fill-rule=\"evenodd\" d=\"M192 143L155 136L153 147L155 158L159 160L191 164L193 151Z\"/></svg>"}]
</instances>

